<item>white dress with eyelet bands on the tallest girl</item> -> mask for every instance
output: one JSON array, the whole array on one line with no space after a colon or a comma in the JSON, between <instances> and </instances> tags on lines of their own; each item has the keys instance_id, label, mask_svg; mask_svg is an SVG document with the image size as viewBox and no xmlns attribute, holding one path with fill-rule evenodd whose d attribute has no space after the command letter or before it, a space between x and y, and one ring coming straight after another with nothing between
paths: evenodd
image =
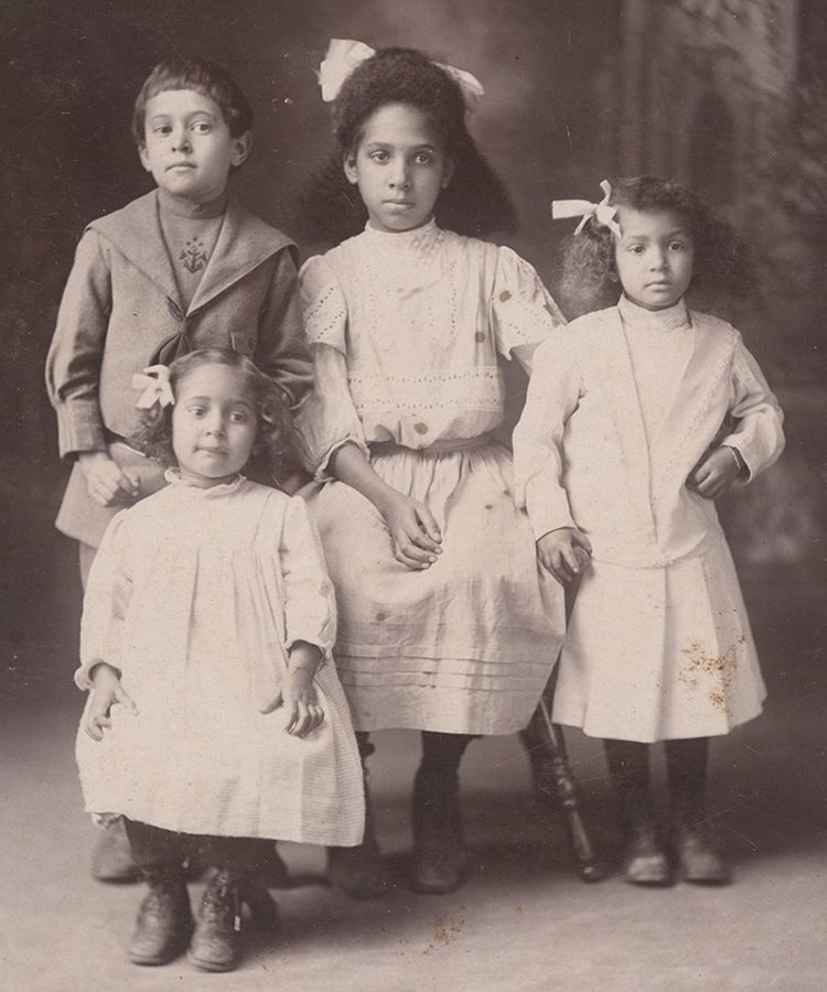
<instances>
[{"instance_id":1,"label":"white dress with eyelet bands on the tallest girl","mask_svg":"<svg viewBox=\"0 0 827 992\"><path fill-rule=\"evenodd\" d=\"M314 390L299 425L339 605L336 659L356 730L507 734L528 722L562 639L562 597L513 498L497 355L526 366L563 317L508 248L433 223L368 227L301 272ZM346 442L428 505L443 553L394 558L364 496L331 481Z\"/></svg>"}]
</instances>

